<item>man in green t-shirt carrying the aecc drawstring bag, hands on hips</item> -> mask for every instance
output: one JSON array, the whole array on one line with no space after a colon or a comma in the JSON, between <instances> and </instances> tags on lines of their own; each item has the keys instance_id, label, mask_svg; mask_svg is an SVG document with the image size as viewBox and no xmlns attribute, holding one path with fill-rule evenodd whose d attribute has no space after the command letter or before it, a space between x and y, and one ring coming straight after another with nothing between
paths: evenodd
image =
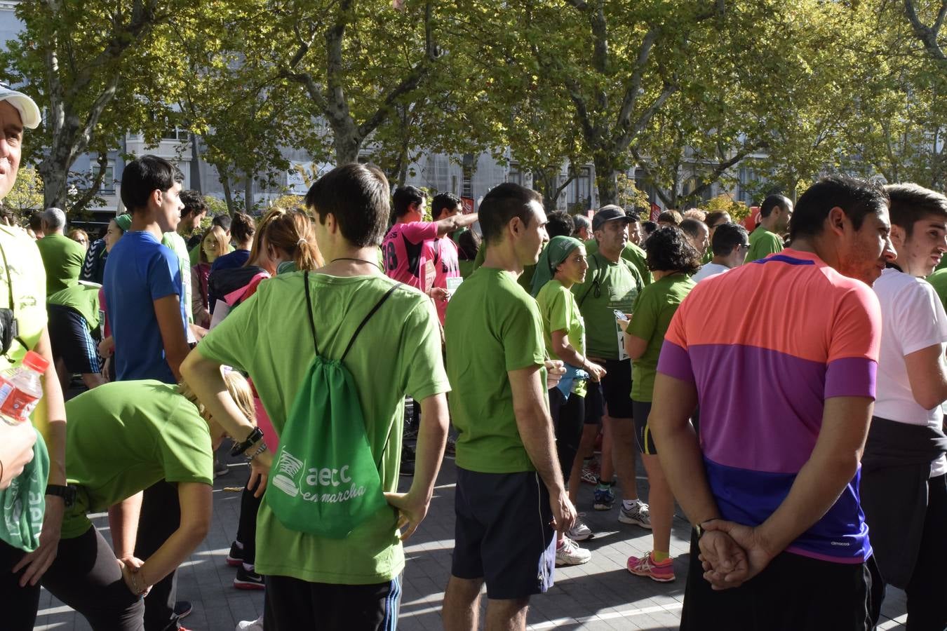
<instances>
[{"instance_id":1,"label":"man in green t-shirt carrying the aecc drawstring bag, hands on hips","mask_svg":"<svg viewBox=\"0 0 947 631\"><path fill-rule=\"evenodd\" d=\"M220 395L220 367L226 364L249 374L274 429L285 438L290 409L308 382L315 347L320 357L339 359L354 339L344 365L358 393L365 418L363 441L378 463L388 505L347 537L333 539L286 528L269 504L262 503L256 570L266 581L267 628L395 628L404 569L402 540L417 529L434 493L447 440L445 393L450 389L434 305L418 289L402 285L356 337L368 312L398 285L377 265L390 215L389 190L376 167L349 164L322 176L306 195L306 205L316 215L319 249L329 261L308 274L312 328L307 276L279 274L231 311L181 366L188 384L224 427L228 417L238 419L231 402ZM414 479L401 494L396 491L405 394L420 401L421 420ZM291 446L281 441L280 447ZM265 468L259 473L266 474L272 459L262 463ZM252 478L251 487L256 482ZM400 526L406 526L403 533Z\"/></svg>"}]
</instances>

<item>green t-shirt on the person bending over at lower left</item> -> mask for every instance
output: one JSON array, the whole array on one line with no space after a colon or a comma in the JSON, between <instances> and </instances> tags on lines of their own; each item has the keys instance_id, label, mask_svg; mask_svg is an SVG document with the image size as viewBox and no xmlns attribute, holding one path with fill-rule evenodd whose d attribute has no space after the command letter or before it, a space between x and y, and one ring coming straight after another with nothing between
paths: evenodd
<instances>
[{"instance_id":1,"label":"green t-shirt on the person bending over at lower left","mask_svg":"<svg viewBox=\"0 0 947 631\"><path fill-rule=\"evenodd\" d=\"M65 470L76 484L63 538L84 533L86 513L104 511L161 480L214 482L207 423L177 386L152 379L114 381L65 404Z\"/></svg>"}]
</instances>

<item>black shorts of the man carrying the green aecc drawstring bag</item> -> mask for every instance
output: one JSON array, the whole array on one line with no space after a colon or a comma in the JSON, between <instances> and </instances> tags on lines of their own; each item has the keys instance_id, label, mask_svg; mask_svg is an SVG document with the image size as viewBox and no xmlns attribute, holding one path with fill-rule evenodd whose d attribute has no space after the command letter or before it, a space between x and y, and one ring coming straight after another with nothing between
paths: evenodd
<instances>
[{"instance_id":1,"label":"black shorts of the man carrying the green aecc drawstring bag","mask_svg":"<svg viewBox=\"0 0 947 631\"><path fill-rule=\"evenodd\" d=\"M402 577L372 585L310 583L291 576L267 576L263 629L398 628Z\"/></svg>"}]
</instances>

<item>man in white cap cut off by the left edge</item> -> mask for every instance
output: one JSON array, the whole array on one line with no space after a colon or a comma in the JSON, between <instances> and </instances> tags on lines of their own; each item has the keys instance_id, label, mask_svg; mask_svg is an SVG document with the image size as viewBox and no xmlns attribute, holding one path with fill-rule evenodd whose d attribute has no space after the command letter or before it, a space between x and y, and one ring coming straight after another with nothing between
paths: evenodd
<instances>
[{"instance_id":1,"label":"man in white cap cut off by the left edge","mask_svg":"<svg viewBox=\"0 0 947 631\"><path fill-rule=\"evenodd\" d=\"M16 183L24 128L34 130L40 122L32 98L0 83L0 200ZM5 612L3 628L20 631L33 628L40 599L39 589L23 587L39 582L59 545L66 495L65 407L46 328L39 250L23 231L0 225L0 254L0 370L18 367L28 350L49 362L32 424L0 422L0 594L33 605L22 608L30 612L23 617ZM11 518L15 514L20 518Z\"/></svg>"}]
</instances>

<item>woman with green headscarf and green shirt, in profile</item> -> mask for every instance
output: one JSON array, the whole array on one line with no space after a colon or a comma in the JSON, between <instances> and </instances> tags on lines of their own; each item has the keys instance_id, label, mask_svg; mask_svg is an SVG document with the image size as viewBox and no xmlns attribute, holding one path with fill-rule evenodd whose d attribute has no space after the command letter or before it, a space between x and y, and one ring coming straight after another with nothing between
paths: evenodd
<instances>
[{"instance_id":1,"label":"woman with green headscarf and green shirt, in profile","mask_svg":"<svg viewBox=\"0 0 947 631\"><path fill-rule=\"evenodd\" d=\"M533 275L533 288L540 314L543 316L545 352L550 359L562 359L566 375L560 384L549 390L549 414L556 429L556 451L563 471L563 480L569 481L569 499L573 503L581 477L580 444L591 447L598 433L598 425L585 426L585 378L568 378L576 369L598 381L605 369L585 356L585 323L571 288L585 280L588 270L585 246L573 237L553 237L540 254ZM590 431L583 430L588 427ZM587 434L587 436L586 436ZM578 565L591 558L574 541L591 538L592 531L576 520L568 537L560 533L556 548L558 565Z\"/></svg>"}]
</instances>

